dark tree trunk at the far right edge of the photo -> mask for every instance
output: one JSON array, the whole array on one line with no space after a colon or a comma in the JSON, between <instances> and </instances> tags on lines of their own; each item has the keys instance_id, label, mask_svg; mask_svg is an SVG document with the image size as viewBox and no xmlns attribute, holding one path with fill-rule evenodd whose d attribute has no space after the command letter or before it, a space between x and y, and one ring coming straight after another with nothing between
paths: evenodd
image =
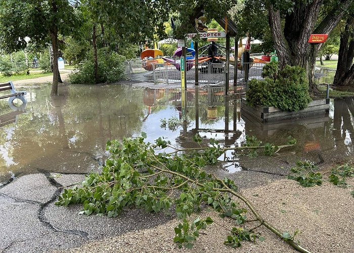
<instances>
[{"instance_id":1,"label":"dark tree trunk at the far right edge of the photo","mask_svg":"<svg viewBox=\"0 0 354 253\"><path fill-rule=\"evenodd\" d=\"M350 85L350 80L344 81L344 79L350 76L350 73L347 72L350 70L354 59L354 29L351 28L352 25L354 25L354 18L348 17L345 28L340 33L337 70L333 80L334 86ZM344 83L346 84L344 85Z\"/></svg>"}]
</instances>

